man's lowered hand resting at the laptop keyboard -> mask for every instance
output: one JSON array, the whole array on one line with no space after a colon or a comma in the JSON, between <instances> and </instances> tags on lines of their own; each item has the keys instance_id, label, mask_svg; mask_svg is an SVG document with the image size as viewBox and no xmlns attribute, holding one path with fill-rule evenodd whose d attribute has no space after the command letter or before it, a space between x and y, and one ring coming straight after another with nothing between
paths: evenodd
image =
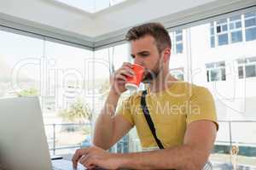
<instances>
[{"instance_id":1,"label":"man's lowered hand resting at the laptop keyboard","mask_svg":"<svg viewBox=\"0 0 256 170\"><path fill-rule=\"evenodd\" d=\"M90 148L76 150L73 156L73 167L76 168L78 162L89 169L102 167L106 169L119 168L119 160L117 154L109 153L99 147L92 146Z\"/></svg>"}]
</instances>

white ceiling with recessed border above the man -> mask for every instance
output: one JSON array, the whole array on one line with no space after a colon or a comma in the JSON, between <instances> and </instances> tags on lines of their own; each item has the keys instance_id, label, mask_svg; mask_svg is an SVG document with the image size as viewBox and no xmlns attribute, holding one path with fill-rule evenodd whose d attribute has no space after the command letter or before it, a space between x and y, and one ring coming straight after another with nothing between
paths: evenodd
<instances>
[{"instance_id":1,"label":"white ceiling with recessed border above the man","mask_svg":"<svg viewBox=\"0 0 256 170\"><path fill-rule=\"evenodd\" d=\"M172 27L255 4L255 0L128 0L90 14L55 0L0 0L0 25L98 47L121 40L128 28L147 21Z\"/></svg>"}]
</instances>

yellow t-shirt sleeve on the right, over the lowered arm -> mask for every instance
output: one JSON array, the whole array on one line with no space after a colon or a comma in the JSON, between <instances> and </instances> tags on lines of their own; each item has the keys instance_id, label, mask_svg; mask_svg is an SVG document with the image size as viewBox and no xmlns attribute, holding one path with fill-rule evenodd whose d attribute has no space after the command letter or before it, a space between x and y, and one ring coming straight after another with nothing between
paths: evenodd
<instances>
[{"instance_id":1,"label":"yellow t-shirt sleeve on the right, over the lowered arm","mask_svg":"<svg viewBox=\"0 0 256 170\"><path fill-rule=\"evenodd\" d=\"M207 120L216 124L218 130L217 114L212 94L207 88L196 87L187 106L187 125L190 122Z\"/></svg>"}]
</instances>

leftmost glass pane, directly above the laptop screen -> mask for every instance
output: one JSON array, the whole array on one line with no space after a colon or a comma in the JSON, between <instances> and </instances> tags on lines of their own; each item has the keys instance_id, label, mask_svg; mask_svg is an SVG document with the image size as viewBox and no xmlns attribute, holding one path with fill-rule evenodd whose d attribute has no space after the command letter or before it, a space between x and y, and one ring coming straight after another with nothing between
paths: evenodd
<instances>
[{"instance_id":1,"label":"leftmost glass pane, directly above the laptop screen","mask_svg":"<svg viewBox=\"0 0 256 170\"><path fill-rule=\"evenodd\" d=\"M0 31L0 98L41 96L44 41Z\"/></svg>"}]
</instances>

